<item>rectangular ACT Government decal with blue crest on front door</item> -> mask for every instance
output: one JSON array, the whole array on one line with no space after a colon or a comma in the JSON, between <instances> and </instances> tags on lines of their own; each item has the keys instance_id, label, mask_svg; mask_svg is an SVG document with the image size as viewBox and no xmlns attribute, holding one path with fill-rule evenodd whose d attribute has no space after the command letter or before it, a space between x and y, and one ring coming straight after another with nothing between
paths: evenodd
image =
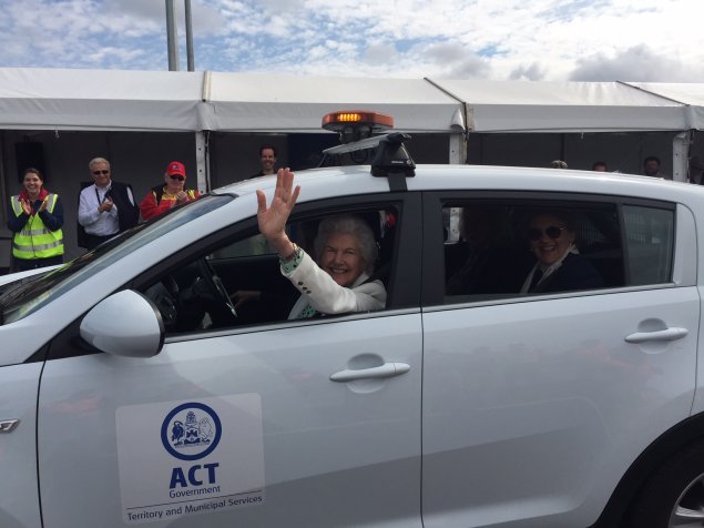
<instances>
[{"instance_id":1,"label":"rectangular ACT Government decal with blue crest on front door","mask_svg":"<svg viewBox=\"0 0 704 528\"><path fill-rule=\"evenodd\" d=\"M126 524L264 504L258 394L119 407L115 427Z\"/></svg>"}]
</instances>

